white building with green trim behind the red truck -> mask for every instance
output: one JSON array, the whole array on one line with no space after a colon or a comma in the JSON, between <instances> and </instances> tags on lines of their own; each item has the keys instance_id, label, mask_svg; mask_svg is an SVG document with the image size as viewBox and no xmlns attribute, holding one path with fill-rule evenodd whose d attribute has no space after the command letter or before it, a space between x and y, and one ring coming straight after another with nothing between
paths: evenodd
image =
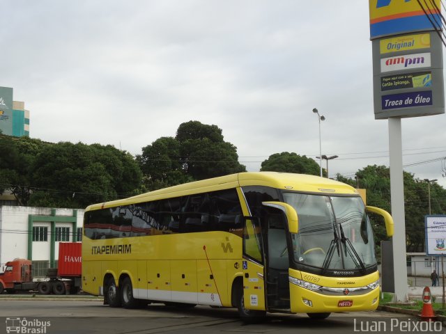
<instances>
[{"instance_id":1,"label":"white building with green trim behind the red truck","mask_svg":"<svg viewBox=\"0 0 446 334\"><path fill-rule=\"evenodd\" d=\"M33 276L57 267L59 242L82 240L84 209L0 205L0 269L22 257L33 261Z\"/></svg>"}]
</instances>

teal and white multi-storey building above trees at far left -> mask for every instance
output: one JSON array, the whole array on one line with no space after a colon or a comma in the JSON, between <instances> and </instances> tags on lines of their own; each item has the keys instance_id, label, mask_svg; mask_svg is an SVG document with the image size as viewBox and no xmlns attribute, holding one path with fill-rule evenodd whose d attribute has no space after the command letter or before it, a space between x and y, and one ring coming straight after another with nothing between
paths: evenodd
<instances>
[{"instance_id":1,"label":"teal and white multi-storey building above trees at far left","mask_svg":"<svg viewBox=\"0 0 446 334\"><path fill-rule=\"evenodd\" d=\"M0 87L0 132L29 137L29 111L24 102L13 100L13 88Z\"/></svg>"}]
</instances>

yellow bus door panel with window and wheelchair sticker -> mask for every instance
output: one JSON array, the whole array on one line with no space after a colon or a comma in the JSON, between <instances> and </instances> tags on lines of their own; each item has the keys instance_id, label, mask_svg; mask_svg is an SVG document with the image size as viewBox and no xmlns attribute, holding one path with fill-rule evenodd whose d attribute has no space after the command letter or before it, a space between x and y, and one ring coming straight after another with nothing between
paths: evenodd
<instances>
[{"instance_id":1,"label":"yellow bus door panel with window and wheelchair sticker","mask_svg":"<svg viewBox=\"0 0 446 334\"><path fill-rule=\"evenodd\" d=\"M266 310L265 268L260 222L247 217L243 229L243 302L249 310Z\"/></svg>"}]
</instances>

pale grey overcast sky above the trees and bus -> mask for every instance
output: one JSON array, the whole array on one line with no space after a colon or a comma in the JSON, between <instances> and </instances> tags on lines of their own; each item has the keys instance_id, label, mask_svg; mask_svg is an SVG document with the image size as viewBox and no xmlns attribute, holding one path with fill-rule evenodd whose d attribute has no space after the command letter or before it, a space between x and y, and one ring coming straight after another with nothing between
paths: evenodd
<instances>
[{"instance_id":1,"label":"pale grey overcast sky above the trees and bus","mask_svg":"<svg viewBox=\"0 0 446 334\"><path fill-rule=\"evenodd\" d=\"M256 171L276 152L316 159L316 107L322 154L339 155L330 177L389 165L366 0L6 0L1 9L0 86L25 102L33 138L140 154L199 120ZM403 119L403 164L445 157L445 124L446 115ZM446 186L445 168L405 170Z\"/></svg>"}]
</instances>

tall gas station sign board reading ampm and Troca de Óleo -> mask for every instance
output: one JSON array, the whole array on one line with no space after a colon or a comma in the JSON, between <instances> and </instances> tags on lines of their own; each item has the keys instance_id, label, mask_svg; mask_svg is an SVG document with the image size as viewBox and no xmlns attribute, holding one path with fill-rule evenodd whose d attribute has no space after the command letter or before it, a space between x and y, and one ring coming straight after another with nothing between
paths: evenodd
<instances>
[{"instance_id":1,"label":"tall gas station sign board reading ampm and Troca de \u00d3leo","mask_svg":"<svg viewBox=\"0 0 446 334\"><path fill-rule=\"evenodd\" d=\"M445 113L438 0L369 0L375 119ZM426 15L426 13L428 15Z\"/></svg>"}]
</instances>

